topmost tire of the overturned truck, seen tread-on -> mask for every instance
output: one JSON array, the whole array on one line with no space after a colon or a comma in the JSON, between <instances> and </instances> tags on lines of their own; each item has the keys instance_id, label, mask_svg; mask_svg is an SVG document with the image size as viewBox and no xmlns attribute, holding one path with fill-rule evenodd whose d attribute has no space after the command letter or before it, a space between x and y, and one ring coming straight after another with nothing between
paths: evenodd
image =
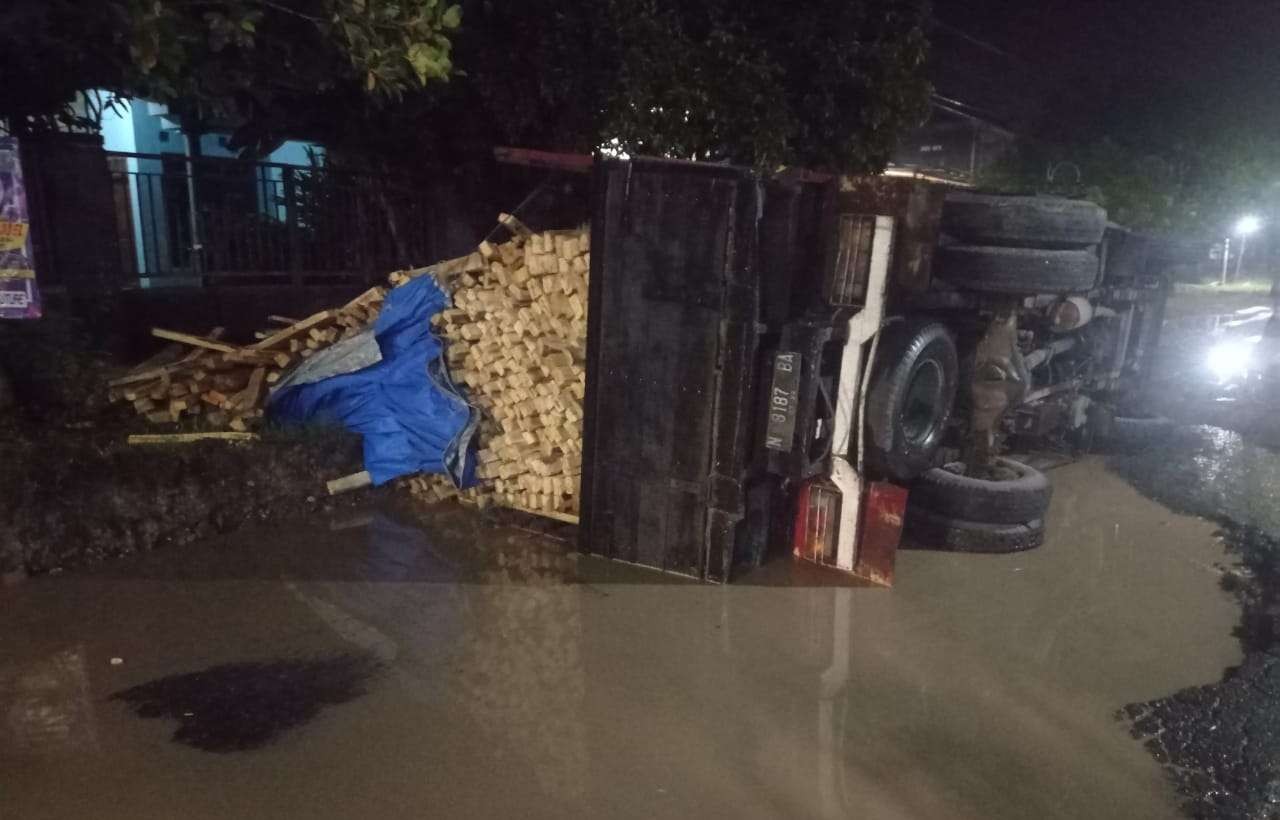
<instances>
[{"instance_id":1,"label":"topmost tire of the overturned truck, seen tread-on","mask_svg":"<svg viewBox=\"0 0 1280 820\"><path fill-rule=\"evenodd\" d=\"M942 205L942 233L968 244L1084 248L1106 229L1107 212L1084 200L956 192Z\"/></svg>"}]
</instances>

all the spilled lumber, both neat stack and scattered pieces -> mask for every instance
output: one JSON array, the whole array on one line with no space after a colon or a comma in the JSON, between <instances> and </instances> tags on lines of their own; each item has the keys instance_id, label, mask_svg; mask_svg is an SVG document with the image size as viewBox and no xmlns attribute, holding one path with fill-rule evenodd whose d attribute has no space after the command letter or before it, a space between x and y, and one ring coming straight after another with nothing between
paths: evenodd
<instances>
[{"instance_id":1,"label":"all the spilled lumber, both neat stack and scattered pieces","mask_svg":"<svg viewBox=\"0 0 1280 820\"><path fill-rule=\"evenodd\" d=\"M457 496L576 521L590 234L535 233L506 214L499 223L506 242L389 278L398 287L434 274L452 294L453 307L433 322L449 375L481 413L477 486L460 493L443 476L413 476L408 485L430 500ZM370 325L385 296L378 287L301 321L273 316L276 326L244 345L223 340L221 329L204 336L154 329L174 345L109 382L110 398L157 425L198 417L192 426L244 431L262 417L269 385ZM365 478L358 486L367 484L367 473L357 476Z\"/></svg>"}]
</instances>

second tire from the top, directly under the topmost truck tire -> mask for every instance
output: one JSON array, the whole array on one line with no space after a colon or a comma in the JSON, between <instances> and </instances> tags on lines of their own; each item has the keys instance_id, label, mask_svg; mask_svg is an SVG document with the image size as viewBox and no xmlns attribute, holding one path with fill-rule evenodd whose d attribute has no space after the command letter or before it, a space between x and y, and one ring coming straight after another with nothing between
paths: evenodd
<instances>
[{"instance_id":1,"label":"second tire from the top, directly under the topmost truck tire","mask_svg":"<svg viewBox=\"0 0 1280 820\"><path fill-rule=\"evenodd\" d=\"M938 248L938 278L965 290L1030 296L1079 293L1098 278L1094 251L1046 251L982 244Z\"/></svg>"}]
</instances>

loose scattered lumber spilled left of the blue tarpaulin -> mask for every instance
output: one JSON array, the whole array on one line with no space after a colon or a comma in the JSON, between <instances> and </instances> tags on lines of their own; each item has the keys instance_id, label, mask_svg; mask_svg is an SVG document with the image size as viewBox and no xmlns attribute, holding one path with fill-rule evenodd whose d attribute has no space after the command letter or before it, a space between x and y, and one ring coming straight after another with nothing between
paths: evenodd
<instances>
[{"instance_id":1,"label":"loose scattered lumber spilled left of the blue tarpaulin","mask_svg":"<svg viewBox=\"0 0 1280 820\"><path fill-rule=\"evenodd\" d=\"M360 333L376 319L385 296L387 288L378 287L303 320L271 316L275 326L246 345L224 342L220 327L204 336L155 327L152 335L174 344L108 382L108 397L131 403L151 423L191 418L205 427L244 431L262 417L269 385L317 351Z\"/></svg>"}]
</instances>

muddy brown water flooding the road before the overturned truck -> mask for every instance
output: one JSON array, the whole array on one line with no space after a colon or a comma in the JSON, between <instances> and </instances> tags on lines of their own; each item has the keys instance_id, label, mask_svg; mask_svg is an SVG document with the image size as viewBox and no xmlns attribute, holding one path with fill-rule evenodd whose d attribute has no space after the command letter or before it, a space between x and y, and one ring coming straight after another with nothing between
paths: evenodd
<instances>
[{"instance_id":1,"label":"muddy brown water flooding the road before the overturned truck","mask_svg":"<svg viewBox=\"0 0 1280 820\"><path fill-rule=\"evenodd\" d=\"M1239 661L1221 545L1100 462L1053 477L1042 549L906 553L892 591L392 510L0 590L3 816L1169 817L1114 713ZM376 670L243 751L175 742L189 697L111 697L351 656Z\"/></svg>"}]
</instances>

